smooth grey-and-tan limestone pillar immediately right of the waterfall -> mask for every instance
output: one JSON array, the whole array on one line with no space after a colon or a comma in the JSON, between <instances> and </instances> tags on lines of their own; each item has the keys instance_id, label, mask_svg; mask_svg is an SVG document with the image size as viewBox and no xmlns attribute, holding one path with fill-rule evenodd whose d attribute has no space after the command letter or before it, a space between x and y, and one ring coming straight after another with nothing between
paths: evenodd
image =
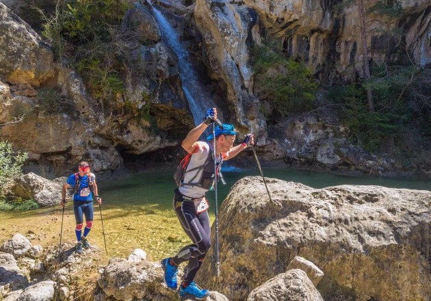
<instances>
[{"instance_id":1,"label":"smooth grey-and-tan limestone pillar immediately right of the waterfall","mask_svg":"<svg viewBox=\"0 0 431 301\"><path fill-rule=\"evenodd\" d=\"M250 43L260 41L256 12L235 1L197 0L194 17L203 35L204 60L226 84L226 101L235 109L240 131L263 135L265 121L252 94L249 62Z\"/></svg>"}]
</instances>

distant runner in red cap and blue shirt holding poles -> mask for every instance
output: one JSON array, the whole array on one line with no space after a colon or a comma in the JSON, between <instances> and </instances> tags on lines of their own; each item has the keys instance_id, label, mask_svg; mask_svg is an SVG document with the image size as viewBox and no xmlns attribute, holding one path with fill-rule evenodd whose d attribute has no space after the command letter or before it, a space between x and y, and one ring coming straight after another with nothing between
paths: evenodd
<instances>
[{"instance_id":1,"label":"distant runner in red cap and blue shirt holding poles","mask_svg":"<svg viewBox=\"0 0 431 301\"><path fill-rule=\"evenodd\" d=\"M66 183L64 183L62 201L60 202L63 207L66 204L66 190L68 187L73 187L73 211L75 212L77 224L75 228L75 234L77 235L75 250L78 254L81 254L82 248L90 248L87 236L93 225L93 196L99 204L102 203L102 199L99 198L96 176L90 172L90 166L86 161L79 163L78 172L68 176ZM86 217L86 228L84 228L82 235L83 215Z\"/></svg>"}]
</instances>

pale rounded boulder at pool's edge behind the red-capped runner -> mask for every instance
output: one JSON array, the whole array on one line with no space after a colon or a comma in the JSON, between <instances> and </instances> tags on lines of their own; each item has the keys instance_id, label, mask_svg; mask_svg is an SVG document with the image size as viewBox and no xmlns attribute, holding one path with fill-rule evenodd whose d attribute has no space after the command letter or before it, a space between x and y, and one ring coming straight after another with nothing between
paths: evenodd
<instances>
[{"instance_id":1,"label":"pale rounded boulder at pool's edge behind the red-capped runner","mask_svg":"<svg viewBox=\"0 0 431 301\"><path fill-rule=\"evenodd\" d=\"M42 207L55 206L62 199L62 186L33 172L16 178L11 191L14 196L32 199Z\"/></svg>"}]
</instances>

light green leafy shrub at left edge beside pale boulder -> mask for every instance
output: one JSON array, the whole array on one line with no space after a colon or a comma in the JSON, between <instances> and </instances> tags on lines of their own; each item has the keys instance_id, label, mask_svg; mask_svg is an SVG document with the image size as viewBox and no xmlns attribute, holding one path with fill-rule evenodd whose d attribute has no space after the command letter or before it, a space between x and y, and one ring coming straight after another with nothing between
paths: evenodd
<instances>
[{"instance_id":1,"label":"light green leafy shrub at left edge beside pale boulder","mask_svg":"<svg viewBox=\"0 0 431 301\"><path fill-rule=\"evenodd\" d=\"M8 194L17 176L21 176L27 153L15 152L8 141L0 141L0 198Z\"/></svg>"}]
</instances>

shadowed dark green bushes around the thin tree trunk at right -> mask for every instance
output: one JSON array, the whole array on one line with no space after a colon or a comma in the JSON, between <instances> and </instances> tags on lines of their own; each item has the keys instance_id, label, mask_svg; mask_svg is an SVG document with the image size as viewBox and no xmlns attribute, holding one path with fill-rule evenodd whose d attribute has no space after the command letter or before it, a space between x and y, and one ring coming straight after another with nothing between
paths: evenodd
<instances>
[{"instance_id":1,"label":"shadowed dark green bushes around the thin tree trunk at right","mask_svg":"<svg viewBox=\"0 0 431 301\"><path fill-rule=\"evenodd\" d=\"M418 146L407 145L406 135L415 135L417 144L430 141L430 70L382 65L372 73L371 80L362 85L337 86L327 95L343 104L340 116L352 142L370 152L397 155ZM374 112L367 107L366 86L374 93Z\"/></svg>"}]
</instances>

